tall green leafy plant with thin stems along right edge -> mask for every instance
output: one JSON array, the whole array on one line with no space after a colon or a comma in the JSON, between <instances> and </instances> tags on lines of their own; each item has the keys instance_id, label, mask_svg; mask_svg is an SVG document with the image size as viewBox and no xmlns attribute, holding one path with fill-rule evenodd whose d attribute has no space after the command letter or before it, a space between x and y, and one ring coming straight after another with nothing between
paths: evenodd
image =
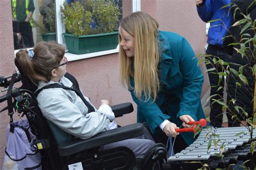
<instances>
[{"instance_id":1,"label":"tall green leafy plant with thin stems along right edge","mask_svg":"<svg viewBox=\"0 0 256 170\"><path fill-rule=\"evenodd\" d=\"M249 9L254 3L256 3L256 1L252 2L251 5L248 6L247 9ZM223 8L227 8L227 6L229 6L230 4L223 6ZM232 32L230 33L230 35L227 35L225 38L231 39L232 43L228 44L228 46L232 47L232 50L234 50L236 52L237 55L241 56L242 58L246 58L247 60L252 60L254 64L252 64L252 66L246 64L246 65L241 65L241 64L236 64L236 63L228 63L225 62L223 59L217 57L217 56L211 56L211 55L203 55L203 57L199 60L199 64L200 63L205 63L207 64L212 64L209 60L209 58L212 58L213 61L213 67L212 69L208 69L207 72L210 71L214 71L216 70L216 74L218 74L219 80L218 80L218 85L217 91L223 90L223 87L220 86L220 82L221 80L224 79L224 77L228 78L234 78L236 80L236 89L238 88L242 88L242 89L246 89L248 92L254 92L254 87L252 86L252 84L250 84L245 76L245 67L249 66L249 69L251 69L250 71L252 72L253 75L256 74L256 64L255 64L255 59L256 59L256 21L255 19L252 19L252 16L250 16L249 13L243 13L241 11L241 9L239 9L239 7L236 4L231 4L231 8L234 8L234 14L233 17L235 18L235 15L237 12L239 12L239 14L242 16L242 18L235 22L231 28L238 28L239 32L239 38L235 37L235 35L232 35ZM248 11L248 10L247 10ZM210 22L214 22L214 21L210 21ZM199 54L199 56L202 56L201 54ZM213 58L214 57L214 58ZM235 56L234 56L235 57ZM217 70L214 65L218 65L220 66L220 70ZM238 70L235 70L232 68L232 65L236 65L239 67ZM254 79L253 79L254 81ZM234 121L239 121L241 123L241 125L246 126L246 128L248 130L250 130L250 141L249 141L249 145L251 148L251 154L250 154L250 160L251 160L251 165L246 164L248 161L250 160L246 160L243 162L243 164L240 165L240 168L244 168L244 169L253 169L256 167L256 162L255 162L255 153L254 150L256 148L256 144L255 144L255 138L253 138L253 129L256 128L256 111L254 108L254 111L252 113L247 113L244 109L244 107L239 106L237 104L237 100L232 98L229 101L226 101L226 103L224 103L224 98L221 98L219 100L215 100L212 99L214 96L216 96L218 94L214 94L213 96L210 96L210 100L212 100L212 103L218 103L219 105L222 106L223 108L223 112L226 110L227 114L231 114L232 115L232 120ZM253 95L253 94L252 94ZM252 103L254 102L254 100L251 101ZM234 107L234 111L237 113L233 113L232 108ZM252 115L252 117L249 117L249 115ZM210 132L208 132L206 134L209 135ZM244 133L244 132L241 132ZM212 134L211 134L212 135ZM240 135L240 133L238 133L237 135ZM208 149L210 149L211 145L214 144L214 146L220 146L220 150L221 152L219 154L216 154L217 157L223 158L223 151L224 151L224 142L221 139L213 139L210 140L208 142ZM253 156L254 154L254 156ZM249 167L250 166L250 167ZM233 165L230 165L228 167L228 169L232 169ZM203 169L203 168L202 168Z\"/></svg>"}]
</instances>

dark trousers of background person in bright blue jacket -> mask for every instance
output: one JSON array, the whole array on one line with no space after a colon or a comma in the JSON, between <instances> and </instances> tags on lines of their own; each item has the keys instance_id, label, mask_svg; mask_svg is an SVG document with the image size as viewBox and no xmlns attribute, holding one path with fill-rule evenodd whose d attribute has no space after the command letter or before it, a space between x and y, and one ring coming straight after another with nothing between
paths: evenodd
<instances>
[{"instance_id":1,"label":"dark trousers of background person in bright blue jacket","mask_svg":"<svg viewBox=\"0 0 256 170\"><path fill-rule=\"evenodd\" d=\"M208 71L208 76L210 80L210 85L211 85L211 93L210 95L213 96L210 100L211 103L211 112L210 112L210 121L211 125L214 127L221 127L222 121L223 121L223 111L222 111L222 105L219 103L215 102L214 100L219 100L223 102L223 88L224 88L224 77L220 80L219 75L217 74L218 72L223 72L224 67L220 64L214 64L214 58L218 60L218 57L221 58L220 52L219 52L219 47L214 47L209 45L207 47L206 53L207 56L206 59L206 67L208 69L213 69L215 70ZM222 89L219 89L219 87L223 87Z\"/></svg>"}]
</instances>

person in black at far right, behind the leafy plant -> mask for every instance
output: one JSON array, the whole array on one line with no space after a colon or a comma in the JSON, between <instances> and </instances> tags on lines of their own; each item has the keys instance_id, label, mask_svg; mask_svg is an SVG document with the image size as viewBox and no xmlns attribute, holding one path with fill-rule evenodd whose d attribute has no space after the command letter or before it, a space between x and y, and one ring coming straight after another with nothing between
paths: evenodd
<instances>
[{"instance_id":1,"label":"person in black at far right, behind the leafy plant","mask_svg":"<svg viewBox=\"0 0 256 170\"><path fill-rule=\"evenodd\" d=\"M256 2L253 0L232 0L232 8L231 14L232 16L232 23L240 21L244 19L244 15L250 15L252 21L256 19ZM238 9L237 9L238 8ZM234 13L235 12L235 13ZM234 14L234 15L233 15ZM233 72L228 74L227 81L228 88L232 89L233 91L229 92L230 97L228 100L233 98L235 103L230 103L229 107L233 114L236 114L241 121L240 125L245 125L246 117L244 113L238 113L234 106L239 106L244 109L244 111L248 114L248 118L252 117L253 115L253 96L254 96L254 75L252 71L252 67L255 63L255 48L253 46L252 41L245 44L246 52L245 56L242 57L240 53L237 52L235 49L240 49L240 44L230 45L232 43L245 43L248 39L253 38L255 36L255 29L251 29L251 26L247 28L244 32L242 28L246 28L245 22L241 25L232 26L230 30L227 32L227 35L224 38L224 48L227 51L228 55L231 56L230 60L230 69L234 69L235 71L239 72L239 68L242 66L242 75L245 76L247 79L248 84L246 85L241 79L235 75ZM246 35L247 36L243 36ZM241 86L238 86L239 83ZM232 114L228 114L228 126L232 126L233 121L230 121L232 118Z\"/></svg>"}]
</instances>

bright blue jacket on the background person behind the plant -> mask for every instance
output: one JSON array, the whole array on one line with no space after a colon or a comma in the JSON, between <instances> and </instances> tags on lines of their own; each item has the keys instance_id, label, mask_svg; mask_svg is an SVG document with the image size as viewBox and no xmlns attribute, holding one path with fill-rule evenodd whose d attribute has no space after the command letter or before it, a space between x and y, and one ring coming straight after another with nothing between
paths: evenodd
<instances>
[{"instance_id":1,"label":"bright blue jacket on the background person behind the plant","mask_svg":"<svg viewBox=\"0 0 256 170\"><path fill-rule=\"evenodd\" d=\"M204 22L220 19L210 23L208 44L223 47L223 38L230 28L233 15L230 12L230 5L227 8L221 8L230 3L231 0L206 0L203 6L197 7L198 15Z\"/></svg>"}]
</instances>

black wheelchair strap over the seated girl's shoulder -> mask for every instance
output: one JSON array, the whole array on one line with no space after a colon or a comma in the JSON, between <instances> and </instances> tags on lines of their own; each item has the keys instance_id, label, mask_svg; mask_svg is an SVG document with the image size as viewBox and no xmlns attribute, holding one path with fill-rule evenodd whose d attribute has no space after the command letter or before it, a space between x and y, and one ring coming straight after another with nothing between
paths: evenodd
<instances>
[{"instance_id":1,"label":"black wheelchair strap over the seated girl's shoulder","mask_svg":"<svg viewBox=\"0 0 256 170\"><path fill-rule=\"evenodd\" d=\"M63 85L60 85L60 84L49 84L47 86L44 86L42 87L41 89L37 90L36 91L36 96L38 96L38 94L44 90L44 89L51 89L51 88L62 88L62 89L65 89L65 90L72 90L72 91L75 91L76 94L83 100L84 104L86 105L86 107L88 108L88 113L90 112L95 112L95 109L94 107L84 98L82 92L80 92L80 90L77 90L77 89L73 89L71 87L66 87L66 86L63 86Z\"/></svg>"}]
</instances>

